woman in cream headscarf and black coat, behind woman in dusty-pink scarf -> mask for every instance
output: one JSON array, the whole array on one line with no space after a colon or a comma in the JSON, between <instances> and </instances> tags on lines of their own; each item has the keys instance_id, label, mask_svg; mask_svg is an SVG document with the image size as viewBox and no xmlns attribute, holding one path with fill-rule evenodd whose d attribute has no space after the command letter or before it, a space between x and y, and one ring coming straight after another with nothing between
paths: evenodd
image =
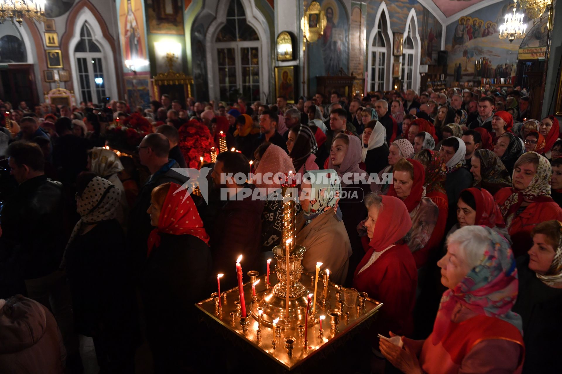
<instances>
[{"instance_id":1,"label":"woman in cream headscarf and black coat, behind woman in dusty-pink scarf","mask_svg":"<svg viewBox=\"0 0 562 374\"><path fill-rule=\"evenodd\" d=\"M373 110L373 112L375 111ZM374 119L367 122L361 137L363 140L361 161L365 163L365 171L368 174L380 172L388 166L386 129L379 121Z\"/></svg>"}]
</instances>

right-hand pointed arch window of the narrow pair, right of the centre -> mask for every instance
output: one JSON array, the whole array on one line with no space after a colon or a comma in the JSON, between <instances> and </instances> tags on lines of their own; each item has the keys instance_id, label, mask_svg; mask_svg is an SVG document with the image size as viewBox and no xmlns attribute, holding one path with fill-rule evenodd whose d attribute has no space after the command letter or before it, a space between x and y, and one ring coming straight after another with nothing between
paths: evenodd
<instances>
[{"instance_id":1,"label":"right-hand pointed arch window of the narrow pair, right of the centre","mask_svg":"<svg viewBox=\"0 0 562 374\"><path fill-rule=\"evenodd\" d=\"M421 40L418 34L418 17L414 8L410 10L404 30L402 45L402 89L419 90Z\"/></svg>"}]
</instances>

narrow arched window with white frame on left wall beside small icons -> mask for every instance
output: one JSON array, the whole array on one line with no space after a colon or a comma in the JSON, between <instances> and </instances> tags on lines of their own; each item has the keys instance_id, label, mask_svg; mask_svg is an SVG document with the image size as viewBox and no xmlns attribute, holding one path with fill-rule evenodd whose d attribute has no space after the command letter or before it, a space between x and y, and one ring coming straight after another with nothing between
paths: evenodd
<instances>
[{"instance_id":1,"label":"narrow arched window with white frame on left wall beside small icons","mask_svg":"<svg viewBox=\"0 0 562 374\"><path fill-rule=\"evenodd\" d=\"M103 53L92 38L92 31L84 23L80 29L80 40L74 48L76 73L80 85L80 98L84 101L101 103L106 95L106 82L103 76Z\"/></svg>"}]
</instances>

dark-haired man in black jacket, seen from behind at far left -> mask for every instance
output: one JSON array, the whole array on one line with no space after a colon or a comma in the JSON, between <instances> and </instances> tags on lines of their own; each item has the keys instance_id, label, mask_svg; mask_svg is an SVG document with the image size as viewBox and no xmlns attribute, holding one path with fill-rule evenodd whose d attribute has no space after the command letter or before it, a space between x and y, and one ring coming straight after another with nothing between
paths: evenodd
<instances>
[{"instance_id":1,"label":"dark-haired man in black jacket, seen from behind at far left","mask_svg":"<svg viewBox=\"0 0 562 374\"><path fill-rule=\"evenodd\" d=\"M45 159L37 144L13 142L8 156L19 186L2 207L2 292L4 296L26 293L52 310L75 362L79 359L78 337L72 327L70 290L58 270L67 241L61 229L65 220L62 186L44 175Z\"/></svg>"}]
</instances>

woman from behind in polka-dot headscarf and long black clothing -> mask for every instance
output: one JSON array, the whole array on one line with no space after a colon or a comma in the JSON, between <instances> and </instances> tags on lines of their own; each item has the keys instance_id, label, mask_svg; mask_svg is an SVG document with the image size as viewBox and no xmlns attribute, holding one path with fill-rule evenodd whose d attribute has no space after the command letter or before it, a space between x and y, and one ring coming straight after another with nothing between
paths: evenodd
<instances>
[{"instance_id":1,"label":"woman from behind in polka-dot headscarf and long black clothing","mask_svg":"<svg viewBox=\"0 0 562 374\"><path fill-rule=\"evenodd\" d=\"M76 223L64 267L72 293L76 334L91 336L99 367L133 370L136 297L125 234L115 219L121 191L93 173L76 179Z\"/></svg>"}]
</instances>

